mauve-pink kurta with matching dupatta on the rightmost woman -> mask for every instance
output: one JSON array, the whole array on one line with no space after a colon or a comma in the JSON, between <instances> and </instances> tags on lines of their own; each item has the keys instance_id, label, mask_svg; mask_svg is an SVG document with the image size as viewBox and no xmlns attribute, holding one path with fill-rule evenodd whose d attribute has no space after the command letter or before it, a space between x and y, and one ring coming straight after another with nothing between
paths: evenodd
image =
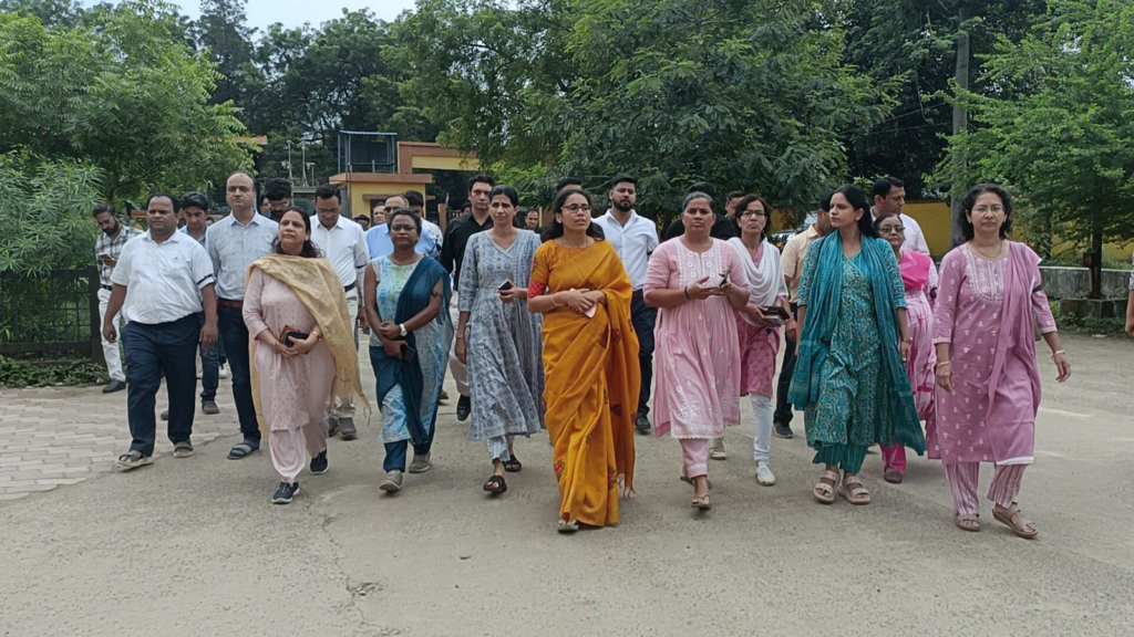
<instances>
[{"instance_id":1,"label":"mauve-pink kurta with matching dupatta on the rightmost woman","mask_svg":"<svg viewBox=\"0 0 1134 637\"><path fill-rule=\"evenodd\" d=\"M965 244L945 256L933 342L948 342L953 393L938 390L938 447L946 465L1031 464L1039 370L1032 313L1040 333L1056 331L1041 289L1039 257L1009 241L1008 257L981 258Z\"/></svg>"}]
</instances>

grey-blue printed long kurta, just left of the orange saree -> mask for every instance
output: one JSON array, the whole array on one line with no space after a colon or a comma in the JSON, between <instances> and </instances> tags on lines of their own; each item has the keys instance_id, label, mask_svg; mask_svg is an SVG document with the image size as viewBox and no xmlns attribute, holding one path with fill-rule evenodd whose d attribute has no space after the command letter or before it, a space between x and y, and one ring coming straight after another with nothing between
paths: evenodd
<instances>
[{"instance_id":1,"label":"grey-blue printed long kurta, just left of the orange saree","mask_svg":"<svg viewBox=\"0 0 1134 637\"><path fill-rule=\"evenodd\" d=\"M526 289L540 238L521 230L508 249L486 232L473 235L460 267L460 312L471 312L465 336L472 419L468 440L531 435L543 428L541 314L526 300L503 303L505 281Z\"/></svg>"}]
</instances>

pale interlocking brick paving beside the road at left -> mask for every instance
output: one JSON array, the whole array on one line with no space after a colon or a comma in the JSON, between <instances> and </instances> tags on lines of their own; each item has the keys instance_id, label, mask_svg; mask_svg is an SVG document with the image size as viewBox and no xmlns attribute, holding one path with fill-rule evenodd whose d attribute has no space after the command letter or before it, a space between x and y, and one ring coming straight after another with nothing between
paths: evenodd
<instances>
[{"instance_id":1,"label":"pale interlocking brick paving beside the road at left","mask_svg":"<svg viewBox=\"0 0 1134 637\"><path fill-rule=\"evenodd\" d=\"M229 381L221 380L220 414L205 416L197 407L193 444L236 434L236 408ZM166 408L164 385L158 411ZM101 387L0 390L0 501L77 484L113 469L128 450L126 391L103 394ZM158 421L155 456L172 455L164 423Z\"/></svg>"}]
</instances>

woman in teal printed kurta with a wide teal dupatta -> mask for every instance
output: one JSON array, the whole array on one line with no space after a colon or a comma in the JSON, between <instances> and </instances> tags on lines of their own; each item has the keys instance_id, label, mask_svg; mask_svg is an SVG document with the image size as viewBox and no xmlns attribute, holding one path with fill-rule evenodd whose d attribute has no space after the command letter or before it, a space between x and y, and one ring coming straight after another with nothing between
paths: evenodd
<instances>
[{"instance_id":1,"label":"woman in teal printed kurta with a wide teal dupatta","mask_svg":"<svg viewBox=\"0 0 1134 637\"><path fill-rule=\"evenodd\" d=\"M871 223L866 194L843 186L831 196L837 231L807 249L799 280L799 345L788 399L804 410L812 462L824 465L813 494L836 492L869 504L858 472L873 444L925 451L905 360L911 338L894 248ZM839 475L839 472L843 475Z\"/></svg>"}]
</instances>

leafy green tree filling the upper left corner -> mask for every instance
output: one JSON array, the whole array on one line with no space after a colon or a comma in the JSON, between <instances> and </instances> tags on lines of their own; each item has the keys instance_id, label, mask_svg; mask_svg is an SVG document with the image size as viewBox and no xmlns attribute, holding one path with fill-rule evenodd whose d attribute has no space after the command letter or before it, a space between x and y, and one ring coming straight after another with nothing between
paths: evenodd
<instances>
[{"instance_id":1,"label":"leafy green tree filling the upper left corner","mask_svg":"<svg viewBox=\"0 0 1134 637\"><path fill-rule=\"evenodd\" d=\"M209 103L215 66L181 41L172 7L127 1L104 15L49 29L0 14L0 152L98 167L108 198L248 167L235 107Z\"/></svg>"}]
</instances>

